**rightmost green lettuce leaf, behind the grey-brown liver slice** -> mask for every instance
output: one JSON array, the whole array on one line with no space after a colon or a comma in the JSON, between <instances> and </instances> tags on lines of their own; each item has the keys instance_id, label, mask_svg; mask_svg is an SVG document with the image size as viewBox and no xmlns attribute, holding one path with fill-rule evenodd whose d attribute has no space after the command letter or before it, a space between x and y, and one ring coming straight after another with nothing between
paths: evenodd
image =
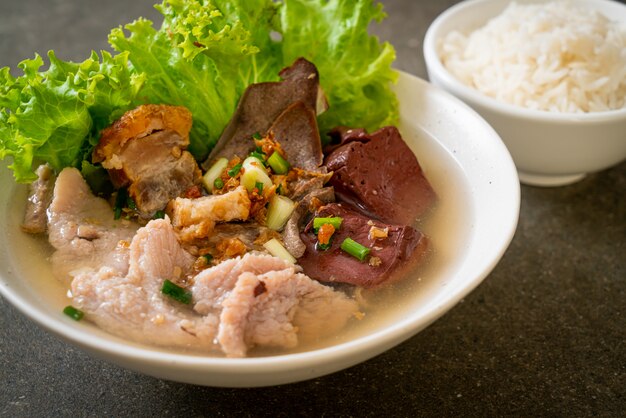
<instances>
[{"instance_id":1,"label":"rightmost green lettuce leaf, behind the grey-brown liver slice","mask_svg":"<svg viewBox=\"0 0 626 418\"><path fill-rule=\"evenodd\" d=\"M389 43L368 33L372 21L385 17L371 0L285 0L279 8L283 65L303 56L320 73L329 109L320 131L338 125L369 131L398 122L398 102L391 90L397 72Z\"/></svg>"}]
</instances>

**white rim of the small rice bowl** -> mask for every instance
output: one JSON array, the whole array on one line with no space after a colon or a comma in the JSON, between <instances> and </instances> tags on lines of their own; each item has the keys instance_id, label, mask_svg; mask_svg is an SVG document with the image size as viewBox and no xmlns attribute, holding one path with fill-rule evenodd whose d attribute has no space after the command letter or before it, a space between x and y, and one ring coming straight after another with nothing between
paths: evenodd
<instances>
[{"instance_id":1,"label":"white rim of the small rice bowl","mask_svg":"<svg viewBox=\"0 0 626 418\"><path fill-rule=\"evenodd\" d=\"M542 3L550 0L517 0L518 3ZM589 4L593 7L594 4L603 4L607 7L624 8L626 12L626 5L612 1L612 0L574 0L578 3ZM440 78L448 88L454 91L455 94L472 101L482 107L488 108L493 112L507 115L514 115L519 118L528 120L541 120L546 122L571 124L571 123L603 123L612 122L626 118L626 107L621 109L612 109L600 112L587 112L587 113L573 113L573 112L553 112L547 110L529 109L523 106L514 105L504 101L500 101L493 97L464 84L458 78L456 78L448 69L443 65L439 57L438 44L445 35L442 32L442 27L448 23L450 19L456 18L463 13L466 13L470 9L476 9L483 7L486 4L500 4L503 6L511 3L507 0L464 0L454 6L444 10L435 20L430 24L426 30L423 42L423 55L426 63L426 68L429 74L429 79L432 79L434 74ZM494 16L483 16L481 19L487 22ZM432 80L431 80L432 81Z\"/></svg>"}]
</instances>

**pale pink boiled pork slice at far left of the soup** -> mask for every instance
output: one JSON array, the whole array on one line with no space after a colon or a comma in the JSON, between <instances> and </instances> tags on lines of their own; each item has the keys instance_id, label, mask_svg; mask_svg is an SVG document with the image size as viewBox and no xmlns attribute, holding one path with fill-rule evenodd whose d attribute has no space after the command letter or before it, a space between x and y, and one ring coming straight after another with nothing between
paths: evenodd
<instances>
[{"instance_id":1,"label":"pale pink boiled pork slice at far left of the soup","mask_svg":"<svg viewBox=\"0 0 626 418\"><path fill-rule=\"evenodd\" d=\"M55 277L69 283L80 271L103 264L126 274L128 244L137 226L113 219L109 203L92 194L77 169L59 173L47 214Z\"/></svg>"}]
</instances>

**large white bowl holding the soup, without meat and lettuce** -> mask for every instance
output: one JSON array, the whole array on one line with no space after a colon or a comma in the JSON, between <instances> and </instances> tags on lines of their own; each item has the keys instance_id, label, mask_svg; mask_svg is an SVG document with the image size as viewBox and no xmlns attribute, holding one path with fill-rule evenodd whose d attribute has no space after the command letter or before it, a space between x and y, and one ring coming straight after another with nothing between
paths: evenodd
<instances>
[{"instance_id":1,"label":"large white bowl holding the soup, without meat and lettuce","mask_svg":"<svg viewBox=\"0 0 626 418\"><path fill-rule=\"evenodd\" d=\"M414 292L370 328L306 352L230 359L186 354L125 341L61 310L63 287L47 271L47 243L19 229L26 188L0 164L0 293L26 316L85 351L159 378L226 387L295 382L328 374L410 338L466 296L489 274L513 237L519 180L495 131L474 111L429 83L401 74L400 128L439 195L431 229L438 265L412 277ZM426 274L428 275L428 274ZM368 320L368 318L366 318Z\"/></svg>"}]
</instances>

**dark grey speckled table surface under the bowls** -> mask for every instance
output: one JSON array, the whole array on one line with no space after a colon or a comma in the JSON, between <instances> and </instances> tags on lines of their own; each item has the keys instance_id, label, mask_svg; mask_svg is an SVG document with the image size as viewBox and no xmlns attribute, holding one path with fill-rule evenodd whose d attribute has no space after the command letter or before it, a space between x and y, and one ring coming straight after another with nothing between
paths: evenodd
<instances>
[{"instance_id":1,"label":"dark grey speckled table surface under the bowls","mask_svg":"<svg viewBox=\"0 0 626 418\"><path fill-rule=\"evenodd\" d=\"M383 2L374 28L426 78L429 23L455 1ZM84 59L153 0L0 0L0 67L49 49ZM625 136L626 140L626 136ZM350 369L257 389L158 380L91 358L0 298L0 416L624 416L626 164L522 187L502 261L415 337Z\"/></svg>"}]
</instances>

